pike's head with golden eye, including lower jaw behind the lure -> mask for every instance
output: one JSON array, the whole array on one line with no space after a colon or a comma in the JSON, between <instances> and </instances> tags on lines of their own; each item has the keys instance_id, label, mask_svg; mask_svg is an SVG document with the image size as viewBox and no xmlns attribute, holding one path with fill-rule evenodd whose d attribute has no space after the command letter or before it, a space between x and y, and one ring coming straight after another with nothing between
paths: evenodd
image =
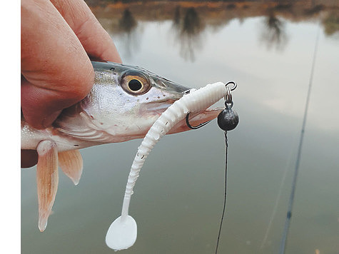
<instances>
[{"instance_id":1,"label":"pike's head with golden eye, including lower jaw behind the lure","mask_svg":"<svg viewBox=\"0 0 339 254\"><path fill-rule=\"evenodd\" d=\"M144 68L111 62L92 62L95 75L91 92L81 101L89 125L113 137L111 142L143 138L161 113L191 90ZM196 113L198 125L220 110ZM185 121L170 133L188 131Z\"/></svg>"}]
</instances>

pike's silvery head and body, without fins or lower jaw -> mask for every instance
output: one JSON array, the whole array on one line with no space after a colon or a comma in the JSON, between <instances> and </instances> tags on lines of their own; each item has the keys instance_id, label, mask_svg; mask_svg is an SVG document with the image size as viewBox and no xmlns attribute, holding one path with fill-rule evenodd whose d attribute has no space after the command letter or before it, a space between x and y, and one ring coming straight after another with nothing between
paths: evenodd
<instances>
[{"instance_id":1,"label":"pike's silvery head and body, without fins or lower jaw","mask_svg":"<svg viewBox=\"0 0 339 254\"><path fill-rule=\"evenodd\" d=\"M42 140L69 151L103 143L142 138L156 118L189 88L136 66L92 62L93 88L66 108L53 126L36 130L21 118L21 149L36 149Z\"/></svg>"}]
</instances>

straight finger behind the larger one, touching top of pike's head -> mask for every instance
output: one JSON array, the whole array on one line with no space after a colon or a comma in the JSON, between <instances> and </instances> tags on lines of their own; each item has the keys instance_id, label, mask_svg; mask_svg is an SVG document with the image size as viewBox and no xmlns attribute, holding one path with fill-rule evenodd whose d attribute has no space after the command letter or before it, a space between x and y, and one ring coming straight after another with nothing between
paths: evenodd
<instances>
[{"instance_id":1,"label":"straight finger behind the larger one, touching top of pike's head","mask_svg":"<svg viewBox=\"0 0 339 254\"><path fill-rule=\"evenodd\" d=\"M121 63L111 36L83 0L51 0L74 31L89 56Z\"/></svg>"}]
</instances>

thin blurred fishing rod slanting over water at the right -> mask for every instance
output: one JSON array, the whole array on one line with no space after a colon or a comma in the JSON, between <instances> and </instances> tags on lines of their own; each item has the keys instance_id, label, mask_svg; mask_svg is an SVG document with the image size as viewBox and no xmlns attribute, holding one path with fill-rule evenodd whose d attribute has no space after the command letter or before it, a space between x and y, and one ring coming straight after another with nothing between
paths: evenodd
<instances>
[{"instance_id":1,"label":"thin blurred fishing rod slanting over water at the right","mask_svg":"<svg viewBox=\"0 0 339 254\"><path fill-rule=\"evenodd\" d=\"M285 253L287 237L288 237L288 230L290 229L290 218L292 217L292 209L293 209L293 203L294 203L294 197L295 197L295 188L297 186L297 180L298 180L300 157L301 157L301 151L302 151L302 148L303 148L303 137L304 137L304 134L305 134L306 119L307 119L307 115L308 115L308 106L309 106L309 103L310 103L310 92L311 92L311 88L312 88L315 58L316 58L316 55L317 55L317 52L318 52L319 34L320 34L320 25L318 26L318 34L317 34L317 37L315 39L315 47L314 47L314 52L313 52L313 63L312 63L311 71L310 71L310 83L308 84L308 93L307 93L307 97L306 97L305 111L304 111L304 116L303 116L303 125L301 127L301 132L300 132L298 155L297 155L297 159L295 161L295 171L294 171L294 175L293 175L292 188L291 188L291 191L290 191L290 199L288 200L288 211L287 211L287 215L286 215L286 219L285 219L283 236L282 236L281 241L280 241L280 249L279 249L280 254Z\"/></svg>"}]
</instances>

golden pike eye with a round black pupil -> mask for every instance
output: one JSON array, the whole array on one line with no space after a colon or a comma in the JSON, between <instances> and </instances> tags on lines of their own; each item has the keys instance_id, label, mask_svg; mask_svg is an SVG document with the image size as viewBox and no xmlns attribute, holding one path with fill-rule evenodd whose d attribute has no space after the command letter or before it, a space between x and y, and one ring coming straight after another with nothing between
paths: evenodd
<instances>
[{"instance_id":1,"label":"golden pike eye with a round black pupil","mask_svg":"<svg viewBox=\"0 0 339 254\"><path fill-rule=\"evenodd\" d=\"M143 93L148 92L151 88L150 82L148 78L144 76L142 73L126 72L121 77L121 87L127 93L132 95L141 95Z\"/></svg>"}]
</instances>

